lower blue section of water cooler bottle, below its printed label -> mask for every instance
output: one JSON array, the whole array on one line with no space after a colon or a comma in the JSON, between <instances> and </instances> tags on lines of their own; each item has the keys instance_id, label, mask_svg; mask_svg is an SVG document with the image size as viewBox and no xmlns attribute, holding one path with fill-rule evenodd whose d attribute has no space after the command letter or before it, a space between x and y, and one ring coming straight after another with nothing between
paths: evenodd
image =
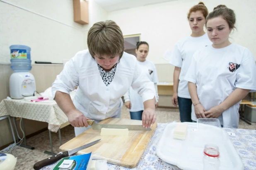
<instances>
[{"instance_id":1,"label":"lower blue section of water cooler bottle, below its printed label","mask_svg":"<svg viewBox=\"0 0 256 170\"><path fill-rule=\"evenodd\" d=\"M31 60L30 59L11 59L11 68L15 72L27 72L30 71Z\"/></svg>"}]
</instances>

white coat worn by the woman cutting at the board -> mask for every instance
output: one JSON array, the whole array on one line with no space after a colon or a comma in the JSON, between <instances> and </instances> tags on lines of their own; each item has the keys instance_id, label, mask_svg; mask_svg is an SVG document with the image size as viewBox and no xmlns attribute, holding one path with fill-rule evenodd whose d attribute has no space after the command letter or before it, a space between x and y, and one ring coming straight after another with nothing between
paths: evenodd
<instances>
[{"instance_id":1,"label":"white coat worn by the woman cutting at the board","mask_svg":"<svg viewBox=\"0 0 256 170\"><path fill-rule=\"evenodd\" d=\"M136 57L123 53L116 66L112 82L106 86L99 73L97 62L89 50L78 52L70 59L52 85L53 97L56 91L68 93L77 87L73 103L87 118L104 120L121 116L121 97L130 86L138 90L143 102L155 97L155 87L138 66ZM85 127L75 127L75 135Z\"/></svg>"}]
</instances>

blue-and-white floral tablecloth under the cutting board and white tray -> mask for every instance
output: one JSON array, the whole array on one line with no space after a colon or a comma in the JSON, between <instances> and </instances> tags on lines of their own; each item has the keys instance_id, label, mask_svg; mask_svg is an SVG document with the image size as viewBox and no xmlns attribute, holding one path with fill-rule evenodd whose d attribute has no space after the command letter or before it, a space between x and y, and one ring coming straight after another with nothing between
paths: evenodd
<instances>
[{"instance_id":1,"label":"blue-and-white floral tablecloth under the cutting board and white tray","mask_svg":"<svg viewBox=\"0 0 256 170\"><path fill-rule=\"evenodd\" d=\"M167 126L167 123L158 123L157 129L153 134L147 149L143 153L140 162L136 168L125 168L108 164L109 170L181 170L175 165L162 161L156 153L156 141L159 134ZM230 129L224 128L227 132L235 133L235 136L229 135L239 157L244 163L244 170L256 170L256 130Z\"/></svg>"}]
</instances>

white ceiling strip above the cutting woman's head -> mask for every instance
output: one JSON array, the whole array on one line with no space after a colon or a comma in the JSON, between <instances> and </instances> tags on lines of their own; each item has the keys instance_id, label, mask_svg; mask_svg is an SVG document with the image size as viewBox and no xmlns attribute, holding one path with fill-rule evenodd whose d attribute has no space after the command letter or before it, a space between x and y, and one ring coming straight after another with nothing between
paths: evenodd
<instances>
[{"instance_id":1,"label":"white ceiling strip above the cutting woman's head","mask_svg":"<svg viewBox=\"0 0 256 170\"><path fill-rule=\"evenodd\" d=\"M118 11L134 7L142 7L145 5L169 2L174 0L94 0L107 12Z\"/></svg>"}]
</instances>

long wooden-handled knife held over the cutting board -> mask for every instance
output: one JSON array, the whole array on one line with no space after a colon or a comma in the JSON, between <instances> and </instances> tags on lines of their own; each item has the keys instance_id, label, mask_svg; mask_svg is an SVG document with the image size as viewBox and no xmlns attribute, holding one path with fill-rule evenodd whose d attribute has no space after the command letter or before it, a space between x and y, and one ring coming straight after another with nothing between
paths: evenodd
<instances>
[{"instance_id":1,"label":"long wooden-handled knife held over the cutting board","mask_svg":"<svg viewBox=\"0 0 256 170\"><path fill-rule=\"evenodd\" d=\"M142 125L111 125L111 124L98 124L94 120L87 120L88 125L92 126L93 130L101 128L115 128L115 129L128 129L128 130L152 130L151 128L145 128Z\"/></svg>"}]
</instances>

